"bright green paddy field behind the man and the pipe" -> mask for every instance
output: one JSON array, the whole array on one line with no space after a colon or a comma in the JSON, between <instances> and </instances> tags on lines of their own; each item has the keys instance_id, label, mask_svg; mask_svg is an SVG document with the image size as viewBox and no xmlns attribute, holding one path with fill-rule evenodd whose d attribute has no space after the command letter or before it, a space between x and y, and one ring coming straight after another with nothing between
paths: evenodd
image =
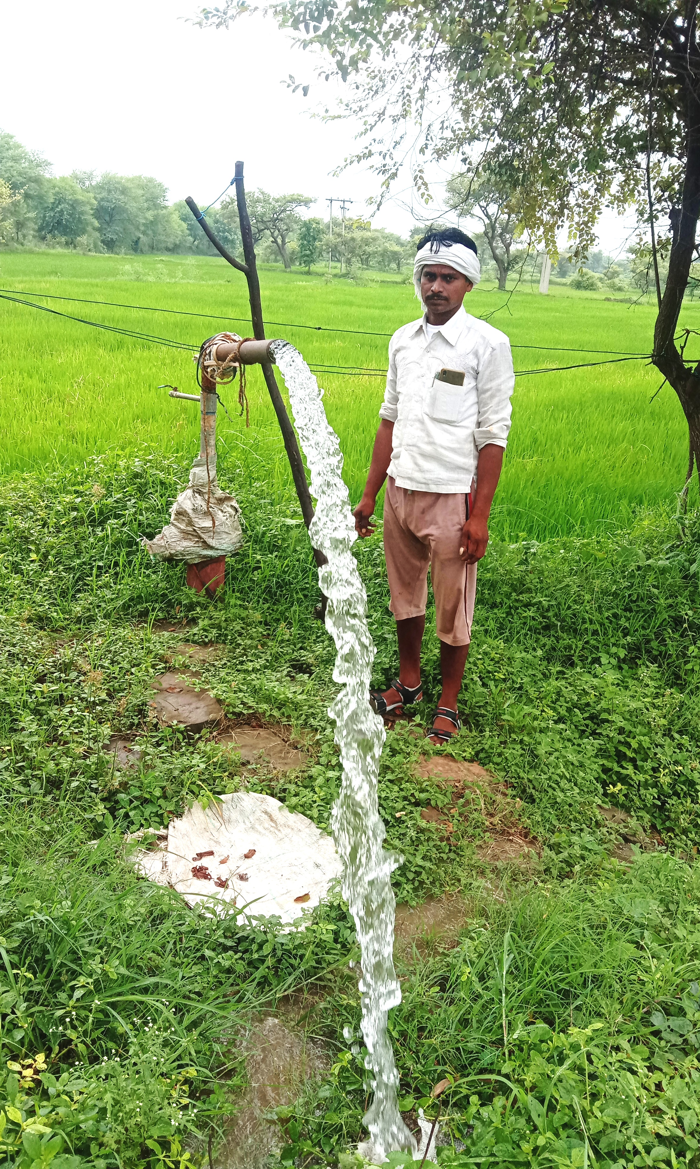
<instances>
[{"instance_id":1,"label":"bright green paddy field behind the man and the pipe","mask_svg":"<svg viewBox=\"0 0 700 1169\"><path fill-rule=\"evenodd\" d=\"M56 296L109 299L202 313L245 317L244 282L223 261L195 257L71 256L68 253L7 253L0 258L2 286ZM270 320L391 332L416 314L413 288L395 281L356 285L320 275L262 274ZM467 302L490 316L513 345L584 346L650 351L654 309L605 303L570 290L545 298L519 291L507 299L477 289ZM109 324L130 325L199 345L215 328L244 321L223 316L196 320L134 313L97 305L44 302L62 311ZM694 327L699 307L684 307ZM75 465L104 450L146 442L164 452L196 447L194 407L157 387L190 390L187 354L164 350L84 325L0 302L5 374L0 388L0 466L25 471ZM387 338L325 334L283 326L312 362L386 367ZM515 348L515 367L533 369L595 360L595 354ZM323 375L328 419L345 456L345 476L358 499L376 429L381 379ZM493 512L493 532L504 540L590 535L631 523L640 507L673 500L682 482L686 430L672 390L658 388L643 362L571 369L521 378L514 394L514 427ZM290 492L272 409L258 369L249 378L251 428L237 411L222 417L220 448L224 475L241 468L248 477L266 468L270 497ZM228 403L227 395L222 395ZM21 404L21 408L18 406ZM230 471L229 471L230 469Z\"/></svg>"}]
</instances>

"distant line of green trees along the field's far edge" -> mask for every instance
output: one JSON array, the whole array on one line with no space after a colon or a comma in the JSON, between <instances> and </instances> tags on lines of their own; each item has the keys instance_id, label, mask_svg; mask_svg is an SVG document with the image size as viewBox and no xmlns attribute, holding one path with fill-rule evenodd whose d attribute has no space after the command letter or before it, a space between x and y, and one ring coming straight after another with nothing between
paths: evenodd
<instances>
[{"instance_id":1,"label":"distant line of green trees along the field's far edge","mask_svg":"<svg viewBox=\"0 0 700 1169\"><path fill-rule=\"evenodd\" d=\"M185 202L169 205L167 188L147 175L96 174L74 171L54 178L43 155L27 150L9 133L0 131L0 245L58 247L82 251L130 254L178 253L215 255L212 244ZM290 271L298 265L332 263L333 270L352 277L370 271L404 274L410 278L416 243L428 224L413 228L404 240L362 219L305 215L316 202L302 193L271 195L248 193L248 209L258 257L280 263ZM460 220L478 223L474 235L481 272L500 289L539 281L543 253L524 240L522 208L503 177L487 168L476 181L464 174L448 184L446 207ZM241 254L238 212L234 196L207 212L207 220L221 242ZM444 227L444 223L430 226ZM473 233L473 227L471 228ZM643 237L615 262L601 251L575 262L568 249L557 257L553 279L567 281L584 291L619 292L631 288L646 292L651 253ZM667 263L660 258L660 279ZM653 274L652 274L653 275ZM700 283L700 282L698 282ZM691 281L689 292L694 292Z\"/></svg>"}]
</instances>

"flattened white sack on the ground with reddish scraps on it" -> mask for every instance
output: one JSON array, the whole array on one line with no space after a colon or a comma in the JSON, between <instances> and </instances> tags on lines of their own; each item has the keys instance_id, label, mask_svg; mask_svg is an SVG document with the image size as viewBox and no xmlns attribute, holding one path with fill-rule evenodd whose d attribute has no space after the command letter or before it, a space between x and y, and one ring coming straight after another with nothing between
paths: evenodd
<instances>
[{"instance_id":1,"label":"flattened white sack on the ground with reddish scraps on it","mask_svg":"<svg viewBox=\"0 0 700 1169\"><path fill-rule=\"evenodd\" d=\"M140 849L136 859L145 877L169 885L192 907L206 902L221 913L235 906L285 925L300 925L341 873L330 836L272 796L249 791L222 796L206 811L195 804L171 822L167 844Z\"/></svg>"}]
</instances>

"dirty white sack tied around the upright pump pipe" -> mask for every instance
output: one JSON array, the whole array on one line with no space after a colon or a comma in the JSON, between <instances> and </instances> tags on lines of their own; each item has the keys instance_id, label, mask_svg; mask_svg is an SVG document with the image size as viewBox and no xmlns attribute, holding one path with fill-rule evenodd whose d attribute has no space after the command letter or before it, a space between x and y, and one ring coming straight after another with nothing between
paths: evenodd
<instances>
[{"instance_id":1,"label":"dirty white sack tied around the upright pump pipe","mask_svg":"<svg viewBox=\"0 0 700 1169\"><path fill-rule=\"evenodd\" d=\"M207 506L208 499L208 506ZM234 496L221 491L216 482L216 461L209 459L209 478L203 458L195 458L189 484L181 491L171 521L153 540L144 539L152 556L186 560L195 565L235 552L243 539L241 509Z\"/></svg>"}]
</instances>

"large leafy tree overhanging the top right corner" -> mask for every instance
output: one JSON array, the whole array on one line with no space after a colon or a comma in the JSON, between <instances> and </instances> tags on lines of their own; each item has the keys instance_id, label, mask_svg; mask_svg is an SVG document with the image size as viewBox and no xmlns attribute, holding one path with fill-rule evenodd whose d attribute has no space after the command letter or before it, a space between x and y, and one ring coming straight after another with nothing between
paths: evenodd
<instances>
[{"instance_id":1,"label":"large leafy tree overhanging the top right corner","mask_svg":"<svg viewBox=\"0 0 700 1169\"><path fill-rule=\"evenodd\" d=\"M271 0L344 81L370 160L388 189L406 155L486 167L521 200L524 226L556 256L568 224L574 258L595 242L604 206L646 221L658 317L652 361L675 390L689 436L686 486L700 476L700 365L675 343L700 214L699 0ZM226 0L201 22L257 5ZM331 69L324 72L330 76ZM437 105L436 115L429 115ZM349 161L353 161L352 159ZM429 198L422 165L414 182ZM660 219L668 230L657 238ZM656 278L659 244L668 258Z\"/></svg>"}]
</instances>

